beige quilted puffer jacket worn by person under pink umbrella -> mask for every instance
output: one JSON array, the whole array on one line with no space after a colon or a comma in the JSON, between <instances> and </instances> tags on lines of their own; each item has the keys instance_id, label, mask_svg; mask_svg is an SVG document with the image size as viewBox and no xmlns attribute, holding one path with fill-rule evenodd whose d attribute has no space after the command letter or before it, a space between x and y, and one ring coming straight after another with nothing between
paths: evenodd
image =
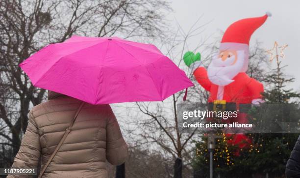
<instances>
[{"instance_id":1,"label":"beige quilted puffer jacket worn by person under pink umbrella","mask_svg":"<svg viewBox=\"0 0 300 178\"><path fill-rule=\"evenodd\" d=\"M27 130L12 167L36 168L41 158L43 169L80 103L50 91L49 101L30 111ZM126 157L127 145L110 106L85 103L42 178L107 178L106 159L120 165ZM21 176L8 176L15 177Z\"/></svg>"}]
</instances>

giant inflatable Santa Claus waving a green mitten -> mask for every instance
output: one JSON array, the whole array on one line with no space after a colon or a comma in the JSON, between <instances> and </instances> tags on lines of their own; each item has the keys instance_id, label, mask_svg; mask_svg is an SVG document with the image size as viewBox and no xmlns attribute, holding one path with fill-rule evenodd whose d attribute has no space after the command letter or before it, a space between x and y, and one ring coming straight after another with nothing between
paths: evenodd
<instances>
[{"instance_id":1,"label":"giant inflatable Santa Claus waving a green mitten","mask_svg":"<svg viewBox=\"0 0 300 178\"><path fill-rule=\"evenodd\" d=\"M210 92L208 108L215 110L218 104L222 104L223 109L240 112L238 118L230 122L248 122L243 109L263 101L263 85L250 78L246 71L249 64L250 37L264 24L268 16L271 14L242 19L231 24L224 33L219 53L212 59L207 70L200 61L199 53L194 55L187 52L184 55L184 62L192 69L198 83ZM231 143L238 144L241 140L249 141L245 135L239 134ZM239 146L244 147L245 144L240 143Z\"/></svg>"}]
</instances>

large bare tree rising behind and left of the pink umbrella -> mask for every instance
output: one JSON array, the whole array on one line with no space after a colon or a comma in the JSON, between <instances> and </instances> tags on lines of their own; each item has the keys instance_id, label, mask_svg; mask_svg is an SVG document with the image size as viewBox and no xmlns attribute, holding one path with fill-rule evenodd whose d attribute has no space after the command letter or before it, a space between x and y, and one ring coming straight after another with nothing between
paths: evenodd
<instances>
[{"instance_id":1,"label":"large bare tree rising behind and left of the pink umbrella","mask_svg":"<svg viewBox=\"0 0 300 178\"><path fill-rule=\"evenodd\" d=\"M163 37L166 9L164 0L0 0L1 159L11 163L30 107L45 98L45 90L35 88L18 64L74 34Z\"/></svg>"}]
</instances>

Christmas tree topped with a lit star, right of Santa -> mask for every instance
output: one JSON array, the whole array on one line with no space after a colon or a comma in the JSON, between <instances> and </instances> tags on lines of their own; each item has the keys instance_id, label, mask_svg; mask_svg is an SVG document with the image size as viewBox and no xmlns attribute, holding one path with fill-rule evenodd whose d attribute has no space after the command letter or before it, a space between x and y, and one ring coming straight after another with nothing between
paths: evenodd
<instances>
[{"instance_id":1,"label":"Christmas tree topped with a lit star, right of Santa","mask_svg":"<svg viewBox=\"0 0 300 178\"><path fill-rule=\"evenodd\" d=\"M285 47L279 48L284 49ZM275 48L278 48L276 42ZM299 113L298 99L300 98L300 93L293 91L293 89L286 89L288 84L295 81L295 78L284 74L286 65L281 65L279 57L283 57L283 53L282 51L280 53L278 55L276 50L276 55L271 58L271 61L276 59L276 67L264 80L267 84L266 86L269 86L269 88L265 89L265 92L262 93L265 103L258 108L261 111L256 112L266 112L264 108L267 106L272 108L273 113L266 113L265 116L272 117L275 121L299 123L299 115L295 115L295 113ZM255 116L255 113L253 116ZM286 162L298 136L299 134L289 134L286 132L252 134L253 147L259 151L256 154L251 153L248 155L253 172L267 174L270 177L284 176Z\"/></svg>"}]
</instances>

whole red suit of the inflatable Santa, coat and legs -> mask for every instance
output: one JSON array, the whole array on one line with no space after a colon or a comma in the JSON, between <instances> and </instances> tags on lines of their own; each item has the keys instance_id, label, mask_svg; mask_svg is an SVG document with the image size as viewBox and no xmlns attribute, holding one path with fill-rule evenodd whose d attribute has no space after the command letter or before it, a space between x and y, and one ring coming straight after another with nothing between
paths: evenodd
<instances>
[{"instance_id":1,"label":"whole red suit of the inflatable Santa, coat and legs","mask_svg":"<svg viewBox=\"0 0 300 178\"><path fill-rule=\"evenodd\" d=\"M210 82L206 69L204 67L198 67L194 71L194 76L198 83L210 92L208 102L217 100L219 86ZM257 80L250 78L245 72L238 73L232 80L234 80L234 82L224 87L223 100L226 100L226 103L251 104L253 99L262 98L261 93L264 91L264 86ZM239 117L236 119L238 120L235 121L239 123L248 122L246 113L239 113ZM231 138L231 134L226 134L226 137ZM239 148L244 148L251 144L251 139L244 134L235 134L232 140L228 140L227 143L237 145ZM236 155L239 155L239 150L236 151Z\"/></svg>"}]
</instances>

